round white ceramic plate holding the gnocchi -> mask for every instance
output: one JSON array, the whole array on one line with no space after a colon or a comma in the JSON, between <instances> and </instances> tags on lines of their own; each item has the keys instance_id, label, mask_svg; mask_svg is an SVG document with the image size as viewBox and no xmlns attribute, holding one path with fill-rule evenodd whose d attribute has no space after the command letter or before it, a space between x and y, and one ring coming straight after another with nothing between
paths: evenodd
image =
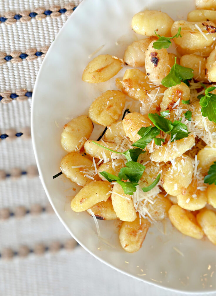
<instances>
[{"instance_id":1,"label":"round white ceramic plate holding the gnocchi","mask_svg":"<svg viewBox=\"0 0 216 296\"><path fill-rule=\"evenodd\" d=\"M108 246L98 240L90 215L70 210L66 196L74 195L73 184L63 175L52 178L66 154L60 144L64 124L69 118L87 113L103 91L116 89L116 77L96 85L82 81L82 71L90 61L88 56L104 45L98 54L123 58L126 45L135 40L130 27L135 13L157 9L174 20L186 19L187 13L195 9L194 2L84 0L56 37L40 68L33 92L32 137L46 194L79 244L99 260L139 280L179 291L207 293L215 290L215 247L207 239L183 236L168 222L166 235L162 234L162 225L158 224L159 230L151 227L139 252L129 254L119 245L116 222L98 221L101 236L111 244Z\"/></svg>"}]
</instances>

